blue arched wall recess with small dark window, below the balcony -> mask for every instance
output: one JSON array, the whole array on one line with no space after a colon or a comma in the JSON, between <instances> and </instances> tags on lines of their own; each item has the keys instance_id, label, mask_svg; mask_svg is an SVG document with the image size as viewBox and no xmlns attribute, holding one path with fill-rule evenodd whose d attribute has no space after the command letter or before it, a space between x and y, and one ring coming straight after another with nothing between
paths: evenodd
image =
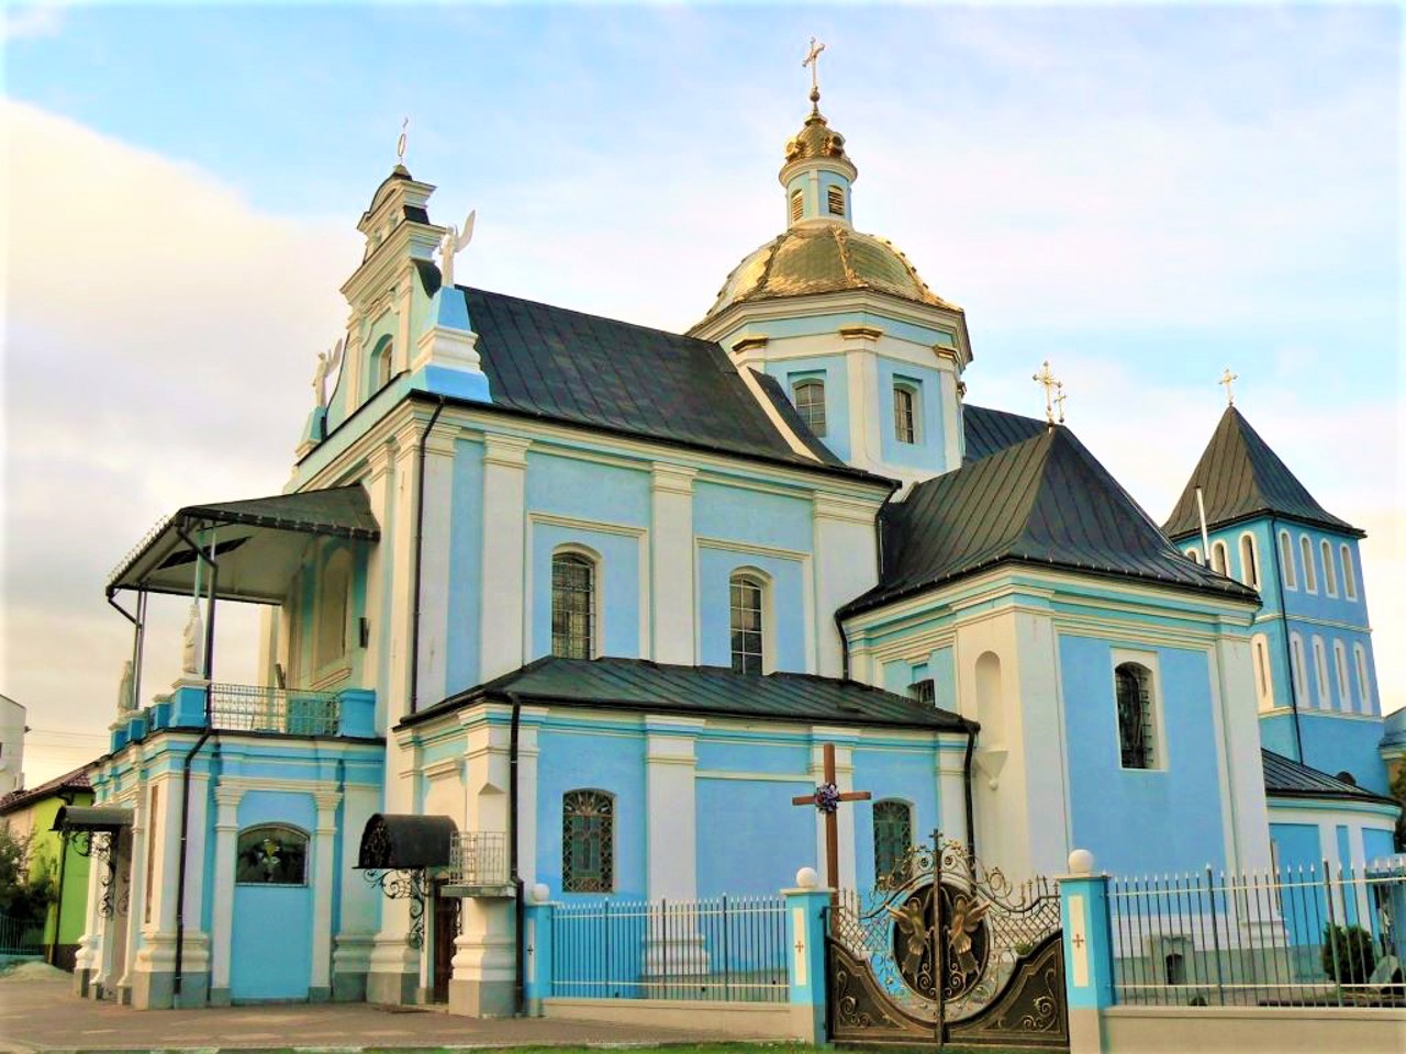
<instances>
[{"instance_id":1,"label":"blue arched wall recess with small dark window, below the balcony","mask_svg":"<svg viewBox=\"0 0 1406 1054\"><path fill-rule=\"evenodd\" d=\"M305 832L281 824L239 832L233 912L231 999L307 999L312 890Z\"/></svg>"}]
</instances>

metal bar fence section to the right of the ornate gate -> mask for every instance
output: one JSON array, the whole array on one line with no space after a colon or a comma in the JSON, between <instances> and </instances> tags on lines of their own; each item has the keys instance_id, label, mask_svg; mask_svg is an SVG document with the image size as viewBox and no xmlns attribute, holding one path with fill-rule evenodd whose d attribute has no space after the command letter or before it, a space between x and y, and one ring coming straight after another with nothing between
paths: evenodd
<instances>
[{"instance_id":1,"label":"metal bar fence section to the right of the ornate gate","mask_svg":"<svg viewBox=\"0 0 1406 1054\"><path fill-rule=\"evenodd\" d=\"M1406 1006L1406 857L1109 883L1114 998Z\"/></svg>"}]
</instances>

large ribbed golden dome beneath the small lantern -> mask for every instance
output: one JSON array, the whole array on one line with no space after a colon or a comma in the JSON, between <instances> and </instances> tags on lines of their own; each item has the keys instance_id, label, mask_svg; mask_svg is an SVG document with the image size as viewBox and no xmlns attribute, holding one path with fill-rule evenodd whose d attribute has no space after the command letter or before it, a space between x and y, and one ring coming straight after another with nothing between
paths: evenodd
<instances>
[{"instance_id":1,"label":"large ribbed golden dome beneath the small lantern","mask_svg":"<svg viewBox=\"0 0 1406 1054\"><path fill-rule=\"evenodd\" d=\"M724 282L709 316L734 304L875 289L917 304L960 311L932 292L891 243L842 223L799 223L747 256Z\"/></svg>"}]
</instances>

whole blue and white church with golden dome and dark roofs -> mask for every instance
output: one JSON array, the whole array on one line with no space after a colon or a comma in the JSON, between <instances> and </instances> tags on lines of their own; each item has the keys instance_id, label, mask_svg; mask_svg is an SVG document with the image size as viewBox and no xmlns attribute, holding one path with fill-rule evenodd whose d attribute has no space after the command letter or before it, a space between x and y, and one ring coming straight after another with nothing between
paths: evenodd
<instances>
[{"instance_id":1,"label":"whole blue and white church with golden dome and dark roofs","mask_svg":"<svg viewBox=\"0 0 1406 1054\"><path fill-rule=\"evenodd\" d=\"M827 746L870 793L846 888L934 829L1012 878L1391 850L1361 531L1234 409L1159 527L1053 415L969 403L966 316L856 229L818 103L688 333L458 285L434 187L375 188L284 492L173 512L107 582L79 991L513 1013L524 897L824 868L790 800ZM153 593L191 601L155 689ZM231 603L259 684L219 679Z\"/></svg>"}]
</instances>

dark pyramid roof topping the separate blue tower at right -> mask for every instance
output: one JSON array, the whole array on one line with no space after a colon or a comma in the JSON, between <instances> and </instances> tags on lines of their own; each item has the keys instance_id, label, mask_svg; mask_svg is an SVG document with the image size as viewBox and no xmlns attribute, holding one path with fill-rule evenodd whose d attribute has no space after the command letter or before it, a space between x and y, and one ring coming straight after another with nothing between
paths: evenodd
<instances>
[{"instance_id":1,"label":"dark pyramid roof topping the separate blue tower at right","mask_svg":"<svg viewBox=\"0 0 1406 1054\"><path fill-rule=\"evenodd\" d=\"M1260 433L1234 406L1220 415L1211 443L1197 462L1187 489L1163 530L1171 538L1201 531L1197 488L1206 505L1206 527L1223 527L1256 516L1284 516L1331 531L1362 537L1364 531L1340 520L1313 500Z\"/></svg>"}]
</instances>

